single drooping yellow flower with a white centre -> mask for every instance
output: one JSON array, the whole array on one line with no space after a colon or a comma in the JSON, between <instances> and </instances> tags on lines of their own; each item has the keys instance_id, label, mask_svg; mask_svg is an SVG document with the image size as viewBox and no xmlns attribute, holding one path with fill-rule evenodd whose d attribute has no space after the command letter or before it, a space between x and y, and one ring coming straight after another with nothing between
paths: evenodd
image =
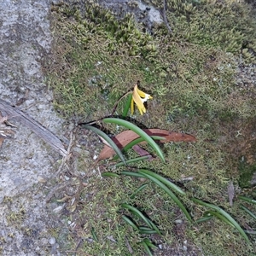
<instances>
[{"instance_id":1,"label":"single drooping yellow flower with a white centre","mask_svg":"<svg viewBox=\"0 0 256 256\"><path fill-rule=\"evenodd\" d=\"M146 113L146 108L144 102L147 102L148 99L153 99L152 96L143 92L142 90L137 89L137 84L134 86L131 98L131 114L134 112L134 102L137 105L138 110L141 114Z\"/></svg>"}]
</instances>

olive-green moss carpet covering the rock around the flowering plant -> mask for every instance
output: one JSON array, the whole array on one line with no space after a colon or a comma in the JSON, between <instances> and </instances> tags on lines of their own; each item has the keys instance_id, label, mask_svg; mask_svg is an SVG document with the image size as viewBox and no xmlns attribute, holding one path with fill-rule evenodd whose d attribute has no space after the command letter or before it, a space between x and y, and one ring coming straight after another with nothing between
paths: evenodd
<instances>
[{"instance_id":1,"label":"olive-green moss carpet covering the rock around the flowering plant","mask_svg":"<svg viewBox=\"0 0 256 256\"><path fill-rule=\"evenodd\" d=\"M162 8L162 1L151 4ZM223 207L244 229L255 230L253 218L241 211L236 200L230 207L227 194L232 180L236 193L253 195L252 189L247 192L239 187L239 158L230 149L239 139L248 140L237 131L255 125L255 88L248 91L236 85L238 61L255 62L253 9L228 0L170 1L166 15L173 32L162 24L154 25L149 33L131 14L118 19L96 3L84 4L82 11L79 6L81 3L55 6L51 15L55 43L48 80L56 110L67 120L79 122L108 116L119 97L139 80L140 89L154 99L148 102L146 114L137 112L130 120L141 127L191 133L197 142L167 143L162 148L165 163L143 161L138 167L179 181L187 193L180 198L194 219L201 218L204 211L191 197ZM122 113L124 104L121 102L114 114ZM113 125L108 129L118 132ZM93 148L84 149L94 154ZM129 151L126 156L136 154ZM99 172L106 166L92 165L93 160L79 158L86 186L76 212L67 217L79 219L80 224L76 233L66 237L67 251L76 249L80 237L79 255L129 255L131 248L134 255L143 255L143 236L121 218L122 213L130 214L120 208L125 202L145 212L161 230L163 236L148 236L163 245L156 254L186 254L189 250L196 255L256 253L255 235L250 236L249 245L218 219L189 224L154 184L135 177L101 178ZM193 178L183 181L186 177ZM146 189L131 199L144 183ZM256 212L255 207L248 207ZM184 241L187 249L183 249Z\"/></svg>"}]
</instances>

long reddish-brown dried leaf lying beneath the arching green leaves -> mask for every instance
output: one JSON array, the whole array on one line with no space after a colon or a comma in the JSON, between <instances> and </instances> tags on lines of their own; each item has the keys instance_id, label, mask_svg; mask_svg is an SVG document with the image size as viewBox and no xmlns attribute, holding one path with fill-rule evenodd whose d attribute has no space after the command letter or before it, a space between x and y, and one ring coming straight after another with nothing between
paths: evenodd
<instances>
[{"instance_id":1,"label":"long reddish-brown dried leaf lying beneath the arching green leaves","mask_svg":"<svg viewBox=\"0 0 256 256\"><path fill-rule=\"evenodd\" d=\"M169 142L195 142L196 138L192 135L182 133L182 132L173 132L173 131L166 131L162 129L143 129L149 136L160 136L165 137L165 140L160 141L160 143L169 143ZM113 142L121 149L124 148L125 145L131 143L139 136L134 131L122 131L117 136L113 137ZM108 147L105 145L102 148L102 152L99 155L97 160L105 160L108 158L112 158L115 154L113 148Z\"/></svg>"}]
</instances>

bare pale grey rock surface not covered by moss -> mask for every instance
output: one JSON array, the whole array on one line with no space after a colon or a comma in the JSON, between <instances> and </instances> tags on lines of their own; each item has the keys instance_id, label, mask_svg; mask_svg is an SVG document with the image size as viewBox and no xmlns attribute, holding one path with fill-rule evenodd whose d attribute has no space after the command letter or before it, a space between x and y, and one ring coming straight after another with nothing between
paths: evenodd
<instances>
[{"instance_id":1,"label":"bare pale grey rock surface not covered by moss","mask_svg":"<svg viewBox=\"0 0 256 256\"><path fill-rule=\"evenodd\" d=\"M40 64L49 55L52 40L49 9L48 0L0 3L0 97L52 131L67 148L73 125L56 115ZM160 15L155 12L151 18ZM239 86L256 86L255 68L241 67ZM65 236L68 223L60 218L57 203L48 201L62 156L15 117L8 118L17 127L0 148L0 254L67 255L55 230ZM253 127L250 132L255 137ZM253 155L250 150L248 154Z\"/></svg>"}]
</instances>

